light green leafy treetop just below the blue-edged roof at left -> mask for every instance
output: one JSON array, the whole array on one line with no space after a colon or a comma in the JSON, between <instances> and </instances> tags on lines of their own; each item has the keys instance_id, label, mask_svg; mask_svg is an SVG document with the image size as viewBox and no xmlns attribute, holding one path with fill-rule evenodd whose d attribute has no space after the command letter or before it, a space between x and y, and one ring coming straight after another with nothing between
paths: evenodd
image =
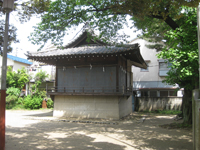
<instances>
[{"instance_id":1,"label":"light green leafy treetop just below the blue-edged roof at left","mask_svg":"<svg viewBox=\"0 0 200 150\"><path fill-rule=\"evenodd\" d=\"M26 83L29 82L29 75L26 73L26 69L18 69L17 72L12 71L11 67L8 67L6 85L7 87L15 87L22 89Z\"/></svg>"}]
</instances>

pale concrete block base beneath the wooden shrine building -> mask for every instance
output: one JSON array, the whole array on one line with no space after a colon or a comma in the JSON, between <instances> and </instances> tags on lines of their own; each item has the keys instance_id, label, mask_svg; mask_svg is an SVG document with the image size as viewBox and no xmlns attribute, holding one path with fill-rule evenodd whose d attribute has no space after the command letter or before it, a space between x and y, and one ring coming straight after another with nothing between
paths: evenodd
<instances>
[{"instance_id":1,"label":"pale concrete block base beneath the wooden shrine building","mask_svg":"<svg viewBox=\"0 0 200 150\"><path fill-rule=\"evenodd\" d=\"M54 99L54 117L119 119L132 112L131 96L63 96Z\"/></svg>"}]
</instances>

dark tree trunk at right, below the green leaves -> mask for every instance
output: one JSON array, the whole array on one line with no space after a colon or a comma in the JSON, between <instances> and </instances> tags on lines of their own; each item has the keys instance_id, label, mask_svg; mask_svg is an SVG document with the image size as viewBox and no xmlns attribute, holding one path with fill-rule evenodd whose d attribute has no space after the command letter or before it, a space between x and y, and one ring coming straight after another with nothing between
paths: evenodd
<instances>
[{"instance_id":1,"label":"dark tree trunk at right, below the green leaves","mask_svg":"<svg viewBox=\"0 0 200 150\"><path fill-rule=\"evenodd\" d=\"M183 123L192 124L192 90L184 89L182 108Z\"/></svg>"}]
</instances>

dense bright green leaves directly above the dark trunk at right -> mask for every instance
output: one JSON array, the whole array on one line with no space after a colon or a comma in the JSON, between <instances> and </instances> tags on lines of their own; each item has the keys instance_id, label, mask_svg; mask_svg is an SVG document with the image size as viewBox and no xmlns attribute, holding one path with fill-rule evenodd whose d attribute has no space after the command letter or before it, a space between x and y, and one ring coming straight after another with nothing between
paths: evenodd
<instances>
[{"instance_id":1,"label":"dense bright green leaves directly above the dark trunk at right","mask_svg":"<svg viewBox=\"0 0 200 150\"><path fill-rule=\"evenodd\" d=\"M172 63L166 77L169 84L177 83L185 89L198 88L198 41L197 41L197 11L185 9L184 17L176 30L165 34L167 46L160 52L159 57Z\"/></svg>"}]
</instances>

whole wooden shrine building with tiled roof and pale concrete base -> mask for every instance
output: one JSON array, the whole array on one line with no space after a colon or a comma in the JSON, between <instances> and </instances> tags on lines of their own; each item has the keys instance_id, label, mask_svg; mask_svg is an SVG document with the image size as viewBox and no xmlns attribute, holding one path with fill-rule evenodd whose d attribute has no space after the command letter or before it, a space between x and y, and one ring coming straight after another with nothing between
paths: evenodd
<instances>
[{"instance_id":1,"label":"whole wooden shrine building with tiled roof and pale concrete base","mask_svg":"<svg viewBox=\"0 0 200 150\"><path fill-rule=\"evenodd\" d=\"M131 66L146 68L138 44L108 46L87 31L64 49L31 52L28 59L56 66L54 100L56 117L119 119L132 112Z\"/></svg>"}]
</instances>

